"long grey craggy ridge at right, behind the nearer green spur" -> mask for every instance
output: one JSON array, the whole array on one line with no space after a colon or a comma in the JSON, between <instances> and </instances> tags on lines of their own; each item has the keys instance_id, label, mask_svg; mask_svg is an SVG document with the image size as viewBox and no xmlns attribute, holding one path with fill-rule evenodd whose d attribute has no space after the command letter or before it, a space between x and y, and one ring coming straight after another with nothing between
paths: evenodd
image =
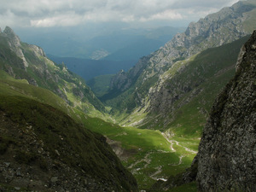
<instances>
[{"instance_id":1,"label":"long grey craggy ridge at right, behind the nearer green spur","mask_svg":"<svg viewBox=\"0 0 256 192\"><path fill-rule=\"evenodd\" d=\"M132 125L140 125L141 121L137 122L137 119L133 119L132 113L136 116L139 112L145 116L148 113L160 111L161 105L158 107L154 105L156 100L162 102L162 105L165 105L168 100L172 100L172 98L166 97L163 100L159 96L152 96L153 92L158 94L158 90L163 89L160 88L163 81L166 81L164 83L166 86L168 81L170 83L170 79L173 78L173 75L166 76L166 71L171 70L175 63L176 71L186 71L183 70L186 63L193 63L188 61L194 60L201 51L231 43L250 34L252 27L245 26L248 26L248 22L252 22L256 18L255 8L256 3L252 0L242 1L230 8L222 9L216 14L208 15L196 23L191 23L186 32L177 34L164 47L143 57L130 71L127 73L119 72L113 77L108 94L101 97L102 102L113 107L113 113L115 113L115 108L126 113L125 118L120 119L122 124L128 125L127 123L131 122ZM219 70L222 70L221 67ZM223 68L223 70L226 69ZM161 78L161 75L165 78ZM172 86L175 84L172 82ZM198 86L199 84L195 85ZM184 84L179 86L177 91L195 91L191 87L185 86ZM153 91L154 87L158 87L157 91ZM163 118L165 114L161 113L160 115Z\"/></svg>"}]
</instances>

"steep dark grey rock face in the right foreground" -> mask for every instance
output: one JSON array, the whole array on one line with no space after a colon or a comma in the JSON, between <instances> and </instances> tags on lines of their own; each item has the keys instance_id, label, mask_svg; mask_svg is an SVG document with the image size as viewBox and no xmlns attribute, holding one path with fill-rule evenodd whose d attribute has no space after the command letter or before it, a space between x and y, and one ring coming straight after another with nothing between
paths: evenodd
<instances>
[{"instance_id":1,"label":"steep dark grey rock face in the right foreground","mask_svg":"<svg viewBox=\"0 0 256 192\"><path fill-rule=\"evenodd\" d=\"M201 191L256 191L256 31L241 49L236 76L212 106L199 147Z\"/></svg>"}]
</instances>

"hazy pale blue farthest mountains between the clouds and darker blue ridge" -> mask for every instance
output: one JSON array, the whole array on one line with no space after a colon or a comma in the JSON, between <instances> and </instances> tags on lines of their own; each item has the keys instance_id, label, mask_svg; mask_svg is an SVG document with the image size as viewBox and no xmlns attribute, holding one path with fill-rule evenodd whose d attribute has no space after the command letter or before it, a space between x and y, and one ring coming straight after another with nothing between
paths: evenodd
<instances>
[{"instance_id":1,"label":"hazy pale blue farthest mountains between the clouds and darker blue ridge","mask_svg":"<svg viewBox=\"0 0 256 192\"><path fill-rule=\"evenodd\" d=\"M38 44L47 55L90 60L134 61L159 49L177 32L183 32L184 28L166 26L155 29L132 29L119 26L112 29L106 26L91 32L91 37L86 37L87 31L90 29L81 26L71 31L60 29L56 32L23 32L20 29L18 34L23 41Z\"/></svg>"}]
</instances>

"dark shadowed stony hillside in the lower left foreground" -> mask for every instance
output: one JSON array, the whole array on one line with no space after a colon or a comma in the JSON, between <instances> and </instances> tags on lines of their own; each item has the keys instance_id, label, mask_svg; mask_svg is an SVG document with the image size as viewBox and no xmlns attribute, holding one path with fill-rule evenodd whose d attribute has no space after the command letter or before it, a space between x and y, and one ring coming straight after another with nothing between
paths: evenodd
<instances>
[{"instance_id":1,"label":"dark shadowed stony hillside in the lower left foreground","mask_svg":"<svg viewBox=\"0 0 256 192\"><path fill-rule=\"evenodd\" d=\"M0 189L137 191L106 138L66 113L23 96L0 96Z\"/></svg>"}]
</instances>

